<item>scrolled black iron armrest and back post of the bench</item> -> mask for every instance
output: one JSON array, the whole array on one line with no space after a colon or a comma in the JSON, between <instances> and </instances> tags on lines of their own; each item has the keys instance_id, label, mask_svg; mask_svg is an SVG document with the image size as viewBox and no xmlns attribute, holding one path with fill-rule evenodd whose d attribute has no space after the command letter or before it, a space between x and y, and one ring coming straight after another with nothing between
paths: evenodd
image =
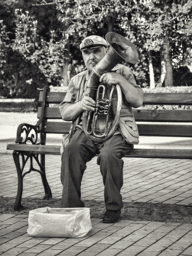
<instances>
[{"instance_id":1,"label":"scrolled black iron armrest and back post of the bench","mask_svg":"<svg viewBox=\"0 0 192 256\"><path fill-rule=\"evenodd\" d=\"M37 143L38 133L40 133L43 128L43 122L46 121L44 118L44 111L46 106L46 93L48 91L50 91L50 88L48 86L45 86L43 88L42 109L39 120L35 125L27 123L20 124L17 128L17 138L15 143L26 144L27 141L32 144ZM38 144L41 144L41 142Z\"/></svg>"}]
</instances>

